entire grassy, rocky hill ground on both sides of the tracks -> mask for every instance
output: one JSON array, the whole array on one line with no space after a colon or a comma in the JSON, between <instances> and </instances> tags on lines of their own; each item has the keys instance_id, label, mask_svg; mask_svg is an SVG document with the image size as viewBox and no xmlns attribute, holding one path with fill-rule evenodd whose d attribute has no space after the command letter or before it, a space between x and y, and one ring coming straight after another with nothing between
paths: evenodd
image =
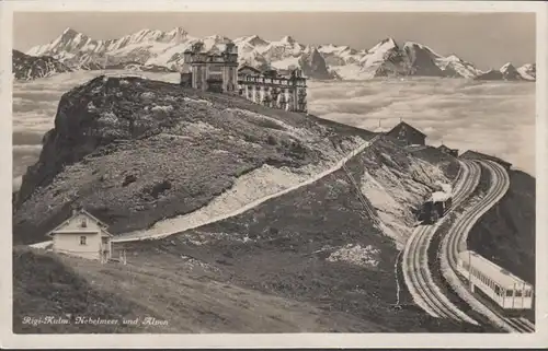
<instances>
[{"instance_id":1,"label":"entire grassy, rocky hill ground on both sides of the tracks","mask_svg":"<svg viewBox=\"0 0 548 351\"><path fill-rule=\"evenodd\" d=\"M119 236L220 198L249 201L321 173L375 136L238 96L101 75L61 97L13 199L13 242L43 242L73 204ZM484 331L427 316L396 268L416 210L456 177L457 160L383 136L346 166L220 221L115 243L127 266L15 247L14 328L158 332L20 323L85 312L169 319L161 332ZM472 248L529 279L534 203L534 179L513 172L509 195L470 234ZM402 309L393 308L398 289Z\"/></svg>"}]
</instances>

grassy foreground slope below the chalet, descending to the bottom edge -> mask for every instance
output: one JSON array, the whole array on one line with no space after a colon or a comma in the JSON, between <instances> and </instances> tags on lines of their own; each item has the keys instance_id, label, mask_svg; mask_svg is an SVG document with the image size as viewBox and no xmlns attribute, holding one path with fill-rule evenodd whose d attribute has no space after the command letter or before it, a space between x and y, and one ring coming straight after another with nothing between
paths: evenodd
<instances>
[{"instance_id":1,"label":"grassy foreground slope below the chalet, descending to the bottom edge","mask_svg":"<svg viewBox=\"0 0 548 351\"><path fill-rule=\"evenodd\" d=\"M44 332L295 332L358 329L364 323L310 304L216 280L216 269L180 256L132 256L127 266L14 250L14 331ZM24 316L85 316L168 326L32 325Z\"/></svg>"}]
</instances>

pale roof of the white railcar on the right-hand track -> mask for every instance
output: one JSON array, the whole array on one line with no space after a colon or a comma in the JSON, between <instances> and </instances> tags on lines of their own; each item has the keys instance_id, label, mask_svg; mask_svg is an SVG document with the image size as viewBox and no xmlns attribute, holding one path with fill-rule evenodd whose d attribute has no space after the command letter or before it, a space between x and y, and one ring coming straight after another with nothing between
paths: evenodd
<instances>
[{"instance_id":1,"label":"pale roof of the white railcar on the right-hand track","mask_svg":"<svg viewBox=\"0 0 548 351\"><path fill-rule=\"evenodd\" d=\"M499 285L501 285L504 289L513 289L514 284L516 289L523 288L524 283L526 286L530 288L530 284L525 282L523 279L520 279L518 277L512 274L507 270L491 262L489 259L484 258L483 256L480 256L475 251L471 250L461 251L458 254L458 257L465 262L471 261L471 266L473 268L476 268L487 277L491 278L493 281L495 281Z\"/></svg>"}]
</instances>

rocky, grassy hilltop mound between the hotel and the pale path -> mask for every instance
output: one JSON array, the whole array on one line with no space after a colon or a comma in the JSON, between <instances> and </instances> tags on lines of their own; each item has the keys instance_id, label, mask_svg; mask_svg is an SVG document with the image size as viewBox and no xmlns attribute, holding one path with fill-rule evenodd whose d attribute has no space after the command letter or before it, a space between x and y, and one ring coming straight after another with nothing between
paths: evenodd
<instances>
[{"instance_id":1,"label":"rocky, grassy hilltop mound between the hotel and the pale path","mask_svg":"<svg viewBox=\"0 0 548 351\"><path fill-rule=\"evenodd\" d=\"M55 129L23 176L14 238L42 241L71 203L114 234L145 229L204 207L255 169L256 186L274 191L270 168L320 173L373 134L237 96L99 77L61 97Z\"/></svg>"}]
</instances>

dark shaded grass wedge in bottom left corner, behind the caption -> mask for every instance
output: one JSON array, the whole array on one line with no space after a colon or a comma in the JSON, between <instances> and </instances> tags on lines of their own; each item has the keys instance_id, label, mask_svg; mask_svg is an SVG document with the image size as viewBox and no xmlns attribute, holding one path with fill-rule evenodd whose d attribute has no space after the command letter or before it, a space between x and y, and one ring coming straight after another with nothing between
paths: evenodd
<instances>
[{"instance_id":1,"label":"dark shaded grass wedge in bottom left corner, behind the caption","mask_svg":"<svg viewBox=\"0 0 548 351\"><path fill-rule=\"evenodd\" d=\"M133 318L139 314L155 316L150 311L99 291L52 254L35 253L26 248L13 250L13 331L34 332L127 332L115 326L80 326L22 323L24 317L64 317L67 314L92 318ZM142 330L142 329L141 329Z\"/></svg>"}]
</instances>

